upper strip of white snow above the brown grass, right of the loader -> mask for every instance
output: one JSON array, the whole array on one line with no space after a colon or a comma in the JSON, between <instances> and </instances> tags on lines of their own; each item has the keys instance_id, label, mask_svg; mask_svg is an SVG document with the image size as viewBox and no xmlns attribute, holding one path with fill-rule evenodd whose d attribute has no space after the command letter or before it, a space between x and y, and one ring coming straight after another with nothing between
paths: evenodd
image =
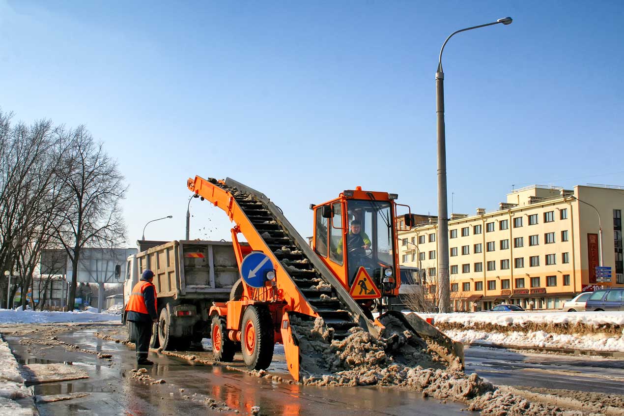
<instances>
[{"instance_id":1,"label":"upper strip of white snow above the brown grass, right of the loader","mask_svg":"<svg viewBox=\"0 0 624 416\"><path fill-rule=\"evenodd\" d=\"M436 324L495 324L500 326L525 326L527 324L559 324L574 326L583 324L591 327L603 325L624 326L622 312L476 312L471 314L421 314L422 319L434 318Z\"/></svg>"}]
</instances>

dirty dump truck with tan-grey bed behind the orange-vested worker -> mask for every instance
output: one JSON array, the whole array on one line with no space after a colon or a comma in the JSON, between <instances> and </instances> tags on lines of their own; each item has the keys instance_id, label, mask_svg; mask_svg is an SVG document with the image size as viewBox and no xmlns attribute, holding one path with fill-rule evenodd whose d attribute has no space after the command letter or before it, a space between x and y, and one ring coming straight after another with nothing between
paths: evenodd
<instances>
[{"instance_id":1,"label":"dirty dump truck with tan-grey bed behind the orange-vested worker","mask_svg":"<svg viewBox=\"0 0 624 416\"><path fill-rule=\"evenodd\" d=\"M150 347L186 350L210 337L208 310L225 302L240 279L232 242L175 240L127 258L124 299L146 269L154 272L158 322ZM125 306L125 305L124 305ZM122 317L125 322L125 312ZM127 325L134 340L132 325Z\"/></svg>"}]
</instances>

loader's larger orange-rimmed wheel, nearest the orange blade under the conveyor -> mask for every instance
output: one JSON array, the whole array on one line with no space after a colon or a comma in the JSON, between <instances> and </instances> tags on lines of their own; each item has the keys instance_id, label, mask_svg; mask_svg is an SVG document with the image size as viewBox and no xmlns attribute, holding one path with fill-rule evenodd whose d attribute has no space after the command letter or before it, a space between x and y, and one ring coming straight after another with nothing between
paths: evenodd
<instances>
[{"instance_id":1,"label":"loader's larger orange-rimmed wheel, nearest the orange blade under the conveyor","mask_svg":"<svg viewBox=\"0 0 624 416\"><path fill-rule=\"evenodd\" d=\"M275 333L269 311L263 307L248 306L241 325L243 360L250 370L266 370L273 360Z\"/></svg>"}]
</instances>

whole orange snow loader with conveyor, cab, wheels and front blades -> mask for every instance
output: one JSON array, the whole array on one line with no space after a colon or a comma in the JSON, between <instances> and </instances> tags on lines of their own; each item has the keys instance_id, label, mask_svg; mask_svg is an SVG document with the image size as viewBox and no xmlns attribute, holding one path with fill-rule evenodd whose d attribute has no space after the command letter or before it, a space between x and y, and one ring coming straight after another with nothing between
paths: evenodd
<instances>
[{"instance_id":1,"label":"whole orange snow loader with conveyor, cab, wheels and front blades","mask_svg":"<svg viewBox=\"0 0 624 416\"><path fill-rule=\"evenodd\" d=\"M371 311L381 312L390 305L388 298L396 297L401 285L396 194L356 187L324 204L311 204L310 245L261 192L229 178L196 176L187 186L202 201L223 209L235 224L232 244L241 279L228 302L213 302L210 308L215 359L232 361L242 350L249 369L266 369L275 343L280 342L288 370L299 380L299 340L291 330L291 316L321 317L333 329L333 339L340 340L353 327L379 335L383 329L379 319L391 314L405 329L441 345L444 359L459 357L463 366L463 345L416 314L406 318L388 310L378 320L373 318ZM411 227L414 215L404 215L403 222ZM239 234L247 244L238 241Z\"/></svg>"}]
</instances>

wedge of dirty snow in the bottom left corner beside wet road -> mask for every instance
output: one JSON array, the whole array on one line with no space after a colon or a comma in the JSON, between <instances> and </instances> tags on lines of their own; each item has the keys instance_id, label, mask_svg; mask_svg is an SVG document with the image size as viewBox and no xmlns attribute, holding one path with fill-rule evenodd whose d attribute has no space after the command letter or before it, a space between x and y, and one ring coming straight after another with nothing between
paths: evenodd
<instances>
[{"instance_id":1,"label":"wedge of dirty snow in the bottom left corner beside wet road","mask_svg":"<svg viewBox=\"0 0 624 416\"><path fill-rule=\"evenodd\" d=\"M31 387L24 385L19 365L0 334L0 415L36 415Z\"/></svg>"}]
</instances>

